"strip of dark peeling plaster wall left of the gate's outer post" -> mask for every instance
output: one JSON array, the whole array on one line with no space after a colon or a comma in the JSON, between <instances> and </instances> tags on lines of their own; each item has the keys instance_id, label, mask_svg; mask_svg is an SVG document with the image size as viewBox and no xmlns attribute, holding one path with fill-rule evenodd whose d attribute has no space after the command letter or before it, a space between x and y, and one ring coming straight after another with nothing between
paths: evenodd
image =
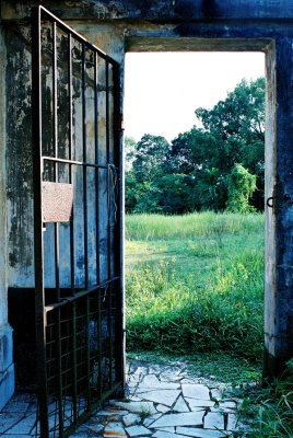
<instances>
[{"instance_id":1,"label":"strip of dark peeling plaster wall left of the gate's outer post","mask_svg":"<svg viewBox=\"0 0 293 438\"><path fill-rule=\"evenodd\" d=\"M11 26L7 45L9 286L34 286L30 28Z\"/></svg>"}]
</instances>

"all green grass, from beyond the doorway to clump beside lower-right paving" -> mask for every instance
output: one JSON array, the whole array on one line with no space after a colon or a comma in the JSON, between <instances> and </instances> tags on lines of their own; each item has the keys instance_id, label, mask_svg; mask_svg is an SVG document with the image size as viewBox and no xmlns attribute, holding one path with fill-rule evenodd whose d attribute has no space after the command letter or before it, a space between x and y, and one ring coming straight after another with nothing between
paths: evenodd
<instances>
[{"instance_id":1,"label":"all green grass, from beyond the doorway to clump beside lower-right paving","mask_svg":"<svg viewBox=\"0 0 293 438\"><path fill-rule=\"evenodd\" d=\"M195 374L212 374L243 399L247 437L288 438L293 359L283 379L261 385L263 220L226 212L127 216L127 350L155 361L184 359Z\"/></svg>"}]
</instances>

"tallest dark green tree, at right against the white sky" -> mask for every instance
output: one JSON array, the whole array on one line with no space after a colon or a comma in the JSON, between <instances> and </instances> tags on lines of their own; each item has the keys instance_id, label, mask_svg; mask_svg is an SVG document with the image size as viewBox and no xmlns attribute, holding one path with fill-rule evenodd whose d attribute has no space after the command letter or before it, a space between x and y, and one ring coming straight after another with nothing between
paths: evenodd
<instances>
[{"instance_id":1,"label":"tallest dark green tree, at right against the white sky","mask_svg":"<svg viewBox=\"0 0 293 438\"><path fill-rule=\"evenodd\" d=\"M263 168L265 87L263 78L250 82L243 79L212 110L196 110L203 130L215 138L219 165L224 172L236 163L254 174Z\"/></svg>"}]
</instances>

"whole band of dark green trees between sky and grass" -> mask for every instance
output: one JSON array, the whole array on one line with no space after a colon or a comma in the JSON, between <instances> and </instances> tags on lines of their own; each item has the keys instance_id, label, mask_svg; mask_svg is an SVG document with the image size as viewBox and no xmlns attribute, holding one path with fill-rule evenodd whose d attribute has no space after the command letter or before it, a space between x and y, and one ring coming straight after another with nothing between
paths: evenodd
<instances>
[{"instance_id":1,"label":"whole band of dark green trees between sky and grass","mask_svg":"<svg viewBox=\"0 0 293 438\"><path fill-rule=\"evenodd\" d=\"M243 80L171 145L126 139L126 210L183 214L263 208L265 79Z\"/></svg>"}]
</instances>

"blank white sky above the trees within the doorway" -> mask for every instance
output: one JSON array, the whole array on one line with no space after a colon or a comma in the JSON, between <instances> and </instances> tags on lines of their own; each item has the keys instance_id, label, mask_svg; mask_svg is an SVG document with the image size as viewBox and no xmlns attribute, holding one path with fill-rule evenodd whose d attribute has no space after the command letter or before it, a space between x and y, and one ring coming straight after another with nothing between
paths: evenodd
<instances>
[{"instance_id":1,"label":"blank white sky above the trees within the doorway","mask_svg":"<svg viewBox=\"0 0 293 438\"><path fill-rule=\"evenodd\" d=\"M125 135L171 141L195 125L196 108L211 108L243 78L261 76L261 53L128 53Z\"/></svg>"}]
</instances>

